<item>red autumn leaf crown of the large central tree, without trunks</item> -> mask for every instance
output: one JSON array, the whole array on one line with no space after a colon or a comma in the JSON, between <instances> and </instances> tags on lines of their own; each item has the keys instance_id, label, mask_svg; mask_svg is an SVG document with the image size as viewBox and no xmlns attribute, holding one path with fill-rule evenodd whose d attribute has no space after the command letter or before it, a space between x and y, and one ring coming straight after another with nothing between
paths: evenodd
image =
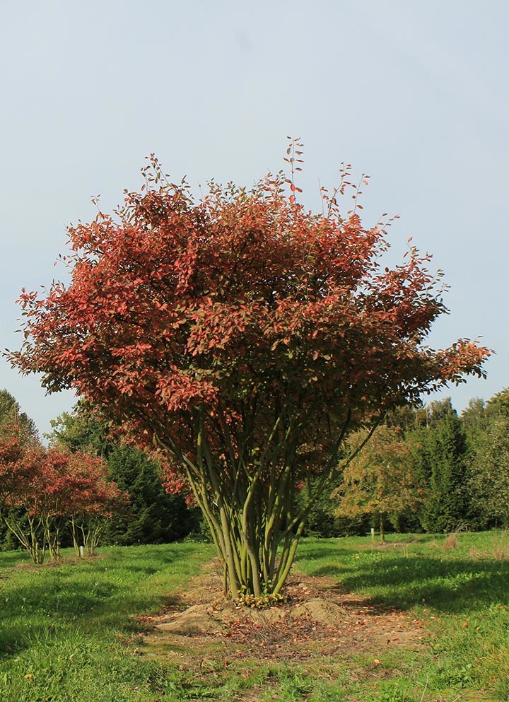
<instances>
[{"instance_id":1,"label":"red autumn leaf crown of the large central tree, without trunks","mask_svg":"<svg viewBox=\"0 0 509 702\"><path fill-rule=\"evenodd\" d=\"M382 269L385 226L341 216L345 183L316 214L296 203L293 173L250 190L211 182L199 201L155 158L144 175L115 216L69 228L69 286L21 295L11 361L50 391L74 387L139 438L171 441L202 407L260 443L276 406L305 445L325 417L341 428L484 375L488 350L468 339L424 345L446 312L429 257L411 247Z\"/></svg>"}]
</instances>

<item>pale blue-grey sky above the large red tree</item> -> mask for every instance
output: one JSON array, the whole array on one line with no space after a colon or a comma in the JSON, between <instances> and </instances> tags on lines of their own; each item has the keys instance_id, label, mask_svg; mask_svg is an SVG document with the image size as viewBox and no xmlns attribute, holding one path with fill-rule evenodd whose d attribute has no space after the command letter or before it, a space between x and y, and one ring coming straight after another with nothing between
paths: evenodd
<instances>
[{"instance_id":1,"label":"pale blue-grey sky above the large red tree","mask_svg":"<svg viewBox=\"0 0 509 702\"><path fill-rule=\"evenodd\" d=\"M252 185L304 144L298 185L320 206L341 162L363 223L398 214L450 291L434 348L496 351L458 411L509 385L509 4L506 0L4 0L0 4L0 349L23 341L21 288L66 280L66 227L138 189L150 153L172 180ZM0 358L0 388L41 433L70 411ZM435 398L432 398L435 399Z\"/></svg>"}]
</instances>

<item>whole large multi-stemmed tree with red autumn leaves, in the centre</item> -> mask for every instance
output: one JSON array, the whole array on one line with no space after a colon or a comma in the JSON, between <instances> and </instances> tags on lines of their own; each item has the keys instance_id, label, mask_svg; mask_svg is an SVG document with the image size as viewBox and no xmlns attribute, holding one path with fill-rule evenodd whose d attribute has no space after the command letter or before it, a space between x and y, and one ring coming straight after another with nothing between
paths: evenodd
<instances>
[{"instance_id":1,"label":"whole large multi-stemmed tree with red autumn leaves, in the centre","mask_svg":"<svg viewBox=\"0 0 509 702\"><path fill-rule=\"evenodd\" d=\"M363 228L346 170L322 191L323 212L306 211L298 147L291 177L249 190L211 182L199 201L151 157L141 192L69 228L69 286L23 291L25 342L9 355L49 392L73 387L118 431L160 448L169 479L187 482L204 512L234 598L279 596L352 428L484 375L489 353L467 339L424 345L446 311L428 255L410 247L380 267L385 224Z\"/></svg>"}]
</instances>

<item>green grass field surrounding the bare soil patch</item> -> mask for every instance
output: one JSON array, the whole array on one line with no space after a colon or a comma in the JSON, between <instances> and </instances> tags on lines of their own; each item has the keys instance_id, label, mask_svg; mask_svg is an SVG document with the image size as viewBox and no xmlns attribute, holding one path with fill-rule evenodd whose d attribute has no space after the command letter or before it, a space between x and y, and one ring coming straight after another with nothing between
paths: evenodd
<instances>
[{"instance_id":1,"label":"green grass field surrounding the bare soil patch","mask_svg":"<svg viewBox=\"0 0 509 702\"><path fill-rule=\"evenodd\" d=\"M392 543L391 543L392 542ZM146 616L209 561L209 544L110 547L32 566L0 554L1 702L509 700L509 537L305 539L296 572L419 622L418 643L191 669L148 655ZM69 560L66 560L66 557ZM407 616L406 616L407 615Z\"/></svg>"}]
</instances>

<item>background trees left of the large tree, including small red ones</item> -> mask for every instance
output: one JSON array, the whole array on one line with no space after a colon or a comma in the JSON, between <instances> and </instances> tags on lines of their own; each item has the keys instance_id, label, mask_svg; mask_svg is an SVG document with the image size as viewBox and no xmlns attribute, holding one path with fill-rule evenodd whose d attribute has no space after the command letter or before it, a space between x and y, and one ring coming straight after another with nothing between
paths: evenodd
<instances>
[{"instance_id":1,"label":"background trees left of the large tree, including small red ones","mask_svg":"<svg viewBox=\"0 0 509 702\"><path fill-rule=\"evenodd\" d=\"M57 544L58 548L73 543L76 547L79 542L88 548L92 533L100 534L105 544L133 545L172 542L201 529L199 510L189 508L184 496L165 491L157 462L134 447L119 445L107 438L107 427L100 425L79 405L72 413L64 413L53 420L52 432L46 438L47 450L35 424L21 411L16 399L7 390L0 390L2 549L22 545L37 560L44 557L43 544L54 556L58 550L54 551L53 546L57 549ZM16 446L14 452L13 445ZM30 458L31 451L40 457L37 464ZM23 461L20 460L22 452ZM59 474L54 470L56 457L59 463L62 457L68 457L64 460L65 469ZM62 520L57 528L55 520L65 511L60 486L66 486L68 503L77 503L79 498L83 501L89 485L81 481L76 484L76 493L71 494L69 471L76 475L80 466L87 467L90 479L93 477L91 467L97 465L97 462L88 464L90 458L100 459L105 465L100 485L107 479L127 501L119 501L114 509L106 508L98 513L98 493L93 497L88 493L90 503L95 499L96 507L93 525L90 518L87 520L90 529L76 533L76 522L71 520ZM106 494L104 497L107 503ZM59 501L58 506L56 501ZM54 538L49 535L49 527L44 533L48 515L52 518L51 533L57 534ZM83 526L83 520L80 523ZM13 528L14 525L17 527ZM23 534L28 534L28 545L24 543Z\"/></svg>"}]
</instances>

